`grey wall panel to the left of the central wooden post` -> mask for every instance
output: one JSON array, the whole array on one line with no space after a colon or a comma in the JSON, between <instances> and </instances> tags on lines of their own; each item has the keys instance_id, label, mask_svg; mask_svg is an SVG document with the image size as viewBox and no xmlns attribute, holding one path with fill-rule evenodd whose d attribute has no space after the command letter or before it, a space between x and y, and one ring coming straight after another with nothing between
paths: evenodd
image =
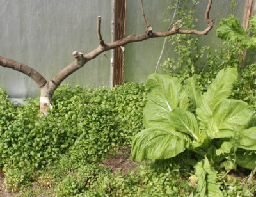
<instances>
[{"instance_id":1,"label":"grey wall panel to the left of the central wooden post","mask_svg":"<svg viewBox=\"0 0 256 197\"><path fill-rule=\"evenodd\" d=\"M48 81L74 61L73 51L92 51L97 40L97 16L102 36L112 40L113 0L0 0L0 56L35 68ZM86 63L63 83L110 86L111 51ZM39 95L35 82L0 67L0 87L11 97Z\"/></svg>"}]
</instances>

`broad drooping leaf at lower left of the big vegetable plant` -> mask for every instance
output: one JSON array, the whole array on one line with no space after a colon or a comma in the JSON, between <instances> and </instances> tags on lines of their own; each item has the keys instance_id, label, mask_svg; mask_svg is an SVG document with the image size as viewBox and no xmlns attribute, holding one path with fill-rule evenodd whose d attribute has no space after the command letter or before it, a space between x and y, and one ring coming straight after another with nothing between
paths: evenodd
<instances>
[{"instance_id":1,"label":"broad drooping leaf at lower left of the big vegetable plant","mask_svg":"<svg viewBox=\"0 0 256 197\"><path fill-rule=\"evenodd\" d=\"M132 139L131 159L168 159L189 148L191 139L175 130L145 129Z\"/></svg>"}]
</instances>

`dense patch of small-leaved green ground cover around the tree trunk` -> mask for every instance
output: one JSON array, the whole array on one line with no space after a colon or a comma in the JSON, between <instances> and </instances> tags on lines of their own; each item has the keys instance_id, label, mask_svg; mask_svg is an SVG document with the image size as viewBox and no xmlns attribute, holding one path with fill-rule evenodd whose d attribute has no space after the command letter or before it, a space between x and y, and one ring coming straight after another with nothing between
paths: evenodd
<instances>
[{"instance_id":1,"label":"dense patch of small-leaved green ground cover around the tree trunk","mask_svg":"<svg viewBox=\"0 0 256 197\"><path fill-rule=\"evenodd\" d=\"M6 187L13 190L31 184L36 171L59 161L60 174L75 163L98 162L143 128L143 84L126 83L112 90L62 86L45 117L37 98L25 99L22 106L13 106L7 98L0 89L0 168L6 173ZM24 171L29 173L24 176Z\"/></svg>"}]
</instances>

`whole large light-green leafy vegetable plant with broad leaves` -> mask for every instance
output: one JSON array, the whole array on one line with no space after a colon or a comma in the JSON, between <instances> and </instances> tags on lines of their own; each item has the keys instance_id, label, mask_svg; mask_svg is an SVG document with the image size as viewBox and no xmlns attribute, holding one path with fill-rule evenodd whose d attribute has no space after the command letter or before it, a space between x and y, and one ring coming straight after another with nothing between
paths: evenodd
<instances>
[{"instance_id":1,"label":"whole large light-green leafy vegetable plant with broad leaves","mask_svg":"<svg viewBox=\"0 0 256 197\"><path fill-rule=\"evenodd\" d=\"M196 75L186 87L175 77L150 75L146 129L134 136L131 159L167 159L191 150L198 159L191 162L199 178L195 196L223 196L216 169L256 166L253 110L246 102L228 99L237 75L236 68L220 70L204 93Z\"/></svg>"}]
</instances>

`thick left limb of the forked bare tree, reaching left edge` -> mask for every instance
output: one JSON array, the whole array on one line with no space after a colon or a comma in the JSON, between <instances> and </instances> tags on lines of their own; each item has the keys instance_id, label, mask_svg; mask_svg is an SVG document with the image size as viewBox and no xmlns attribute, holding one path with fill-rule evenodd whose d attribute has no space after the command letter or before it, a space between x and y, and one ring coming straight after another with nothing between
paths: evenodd
<instances>
[{"instance_id":1,"label":"thick left limb of the forked bare tree, reaching left edge","mask_svg":"<svg viewBox=\"0 0 256 197\"><path fill-rule=\"evenodd\" d=\"M13 61L12 59L0 57L0 65L6 68L12 68L13 70L17 70L25 75L28 75L35 81L39 88L44 86L44 84L47 82L46 79L33 68L17 61Z\"/></svg>"}]
</instances>

